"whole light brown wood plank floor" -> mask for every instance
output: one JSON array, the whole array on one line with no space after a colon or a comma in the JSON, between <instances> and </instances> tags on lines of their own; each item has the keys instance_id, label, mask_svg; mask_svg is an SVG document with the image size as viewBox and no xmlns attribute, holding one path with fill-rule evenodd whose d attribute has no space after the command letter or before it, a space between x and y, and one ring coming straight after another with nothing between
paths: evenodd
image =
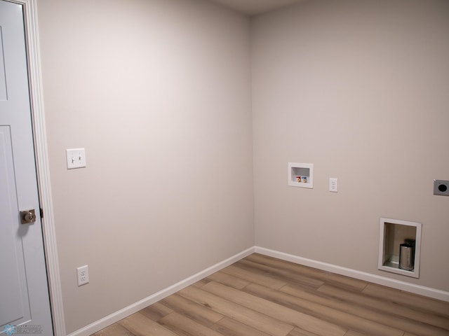
<instances>
[{"instance_id":1,"label":"whole light brown wood plank floor","mask_svg":"<svg viewBox=\"0 0 449 336\"><path fill-rule=\"evenodd\" d=\"M449 302L253 254L95 336L449 335Z\"/></svg>"}]
</instances>

